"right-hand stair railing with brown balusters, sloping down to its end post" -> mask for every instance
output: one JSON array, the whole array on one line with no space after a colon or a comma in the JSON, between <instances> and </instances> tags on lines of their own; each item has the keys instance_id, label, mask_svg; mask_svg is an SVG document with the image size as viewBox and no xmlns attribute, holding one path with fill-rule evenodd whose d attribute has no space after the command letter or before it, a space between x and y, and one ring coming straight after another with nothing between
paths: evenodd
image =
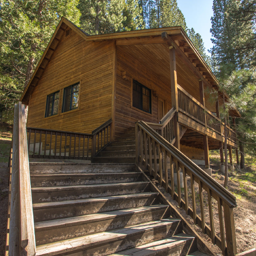
<instances>
[{"instance_id":1,"label":"right-hand stair railing with brown balusters, sloping down to its end post","mask_svg":"<svg viewBox=\"0 0 256 256\"><path fill-rule=\"evenodd\" d=\"M236 254L236 235L233 208L236 207L236 197L145 122L138 121L136 123L135 136L136 164L148 169L149 173L158 179L166 192L172 195L172 199L176 200L187 215L193 218L194 223L202 228L202 231L212 239L213 244L217 244L224 255L234 256ZM152 164L152 158L154 159L154 164ZM156 164L157 159L159 159L158 167ZM168 159L170 160L169 163ZM174 164L176 165L178 192L175 192L174 188ZM168 180L168 169L171 172L171 186ZM180 189L180 171L183 174L184 199L182 199ZM191 182L192 208L188 202L187 175L190 176ZM195 182L198 184L201 217L196 213ZM207 192L208 197L210 227L205 223L203 189ZM215 234L212 197L218 203L220 237ZM222 207L226 232L224 231Z\"/></svg>"}]
</instances>

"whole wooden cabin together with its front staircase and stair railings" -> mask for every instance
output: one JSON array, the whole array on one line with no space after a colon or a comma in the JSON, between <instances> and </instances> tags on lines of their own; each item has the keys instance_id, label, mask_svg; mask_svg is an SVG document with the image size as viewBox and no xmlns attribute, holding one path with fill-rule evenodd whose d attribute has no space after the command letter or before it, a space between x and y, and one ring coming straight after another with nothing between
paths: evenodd
<instances>
[{"instance_id":1,"label":"whole wooden cabin together with its front staircase and stair railings","mask_svg":"<svg viewBox=\"0 0 256 256\"><path fill-rule=\"evenodd\" d=\"M15 105L6 255L214 256L153 176L235 256L236 198L206 173L209 149L224 162L217 86L180 26L89 36L62 18L21 96L27 127Z\"/></svg>"}]
</instances>

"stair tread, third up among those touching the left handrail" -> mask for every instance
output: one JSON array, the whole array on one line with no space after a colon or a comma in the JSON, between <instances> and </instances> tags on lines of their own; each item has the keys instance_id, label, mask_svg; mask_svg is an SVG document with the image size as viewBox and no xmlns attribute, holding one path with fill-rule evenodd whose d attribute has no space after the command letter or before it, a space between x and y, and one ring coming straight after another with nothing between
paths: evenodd
<instances>
[{"instance_id":1,"label":"stair tread, third up among those touching the left handrail","mask_svg":"<svg viewBox=\"0 0 256 256\"><path fill-rule=\"evenodd\" d=\"M33 210L51 208L51 207L62 207L65 206L72 206L76 204L93 204L98 202L107 202L107 201L117 201L117 200L124 200L124 199L133 199L133 198L141 198L141 197L148 197L148 196L158 196L159 193L154 192L142 192L136 194L128 194L128 195L118 195L118 196L104 196L104 197L95 197L95 198L85 198L85 199L77 199L77 200L67 200L67 201L57 201L57 202L46 202L46 203L37 203L33 204Z\"/></svg>"}]
</instances>

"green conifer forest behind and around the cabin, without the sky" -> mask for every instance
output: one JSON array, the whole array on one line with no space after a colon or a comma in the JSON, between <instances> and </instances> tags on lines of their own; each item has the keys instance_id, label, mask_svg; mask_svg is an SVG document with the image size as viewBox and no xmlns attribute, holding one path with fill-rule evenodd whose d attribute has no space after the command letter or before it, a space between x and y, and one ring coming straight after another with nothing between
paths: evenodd
<instances>
[{"instance_id":1,"label":"green conifer forest behind and around the cabin, without the sky","mask_svg":"<svg viewBox=\"0 0 256 256\"><path fill-rule=\"evenodd\" d=\"M200 6L198 6L200 9ZM256 152L256 0L213 0L211 57L200 34L188 28L176 0L0 0L0 119L12 122L13 106L28 84L62 16L90 35L182 26L229 95L221 109L241 114L241 152ZM210 92L209 92L210 93ZM216 93L213 94L216 97Z\"/></svg>"}]
</instances>

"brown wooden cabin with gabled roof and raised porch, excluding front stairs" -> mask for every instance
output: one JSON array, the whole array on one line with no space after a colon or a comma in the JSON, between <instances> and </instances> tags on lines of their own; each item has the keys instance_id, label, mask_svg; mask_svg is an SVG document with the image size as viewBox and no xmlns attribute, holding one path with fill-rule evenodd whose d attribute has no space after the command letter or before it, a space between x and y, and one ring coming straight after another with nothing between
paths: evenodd
<instances>
[{"instance_id":1,"label":"brown wooden cabin with gabled roof and raised porch, excluding front stairs","mask_svg":"<svg viewBox=\"0 0 256 256\"><path fill-rule=\"evenodd\" d=\"M21 101L28 127L91 133L111 119L112 141L138 120L159 124L173 107L176 147L209 168L209 149L224 162L222 96L212 104L204 93L217 86L180 26L89 36L62 18ZM228 135L237 149L235 132Z\"/></svg>"}]
</instances>

